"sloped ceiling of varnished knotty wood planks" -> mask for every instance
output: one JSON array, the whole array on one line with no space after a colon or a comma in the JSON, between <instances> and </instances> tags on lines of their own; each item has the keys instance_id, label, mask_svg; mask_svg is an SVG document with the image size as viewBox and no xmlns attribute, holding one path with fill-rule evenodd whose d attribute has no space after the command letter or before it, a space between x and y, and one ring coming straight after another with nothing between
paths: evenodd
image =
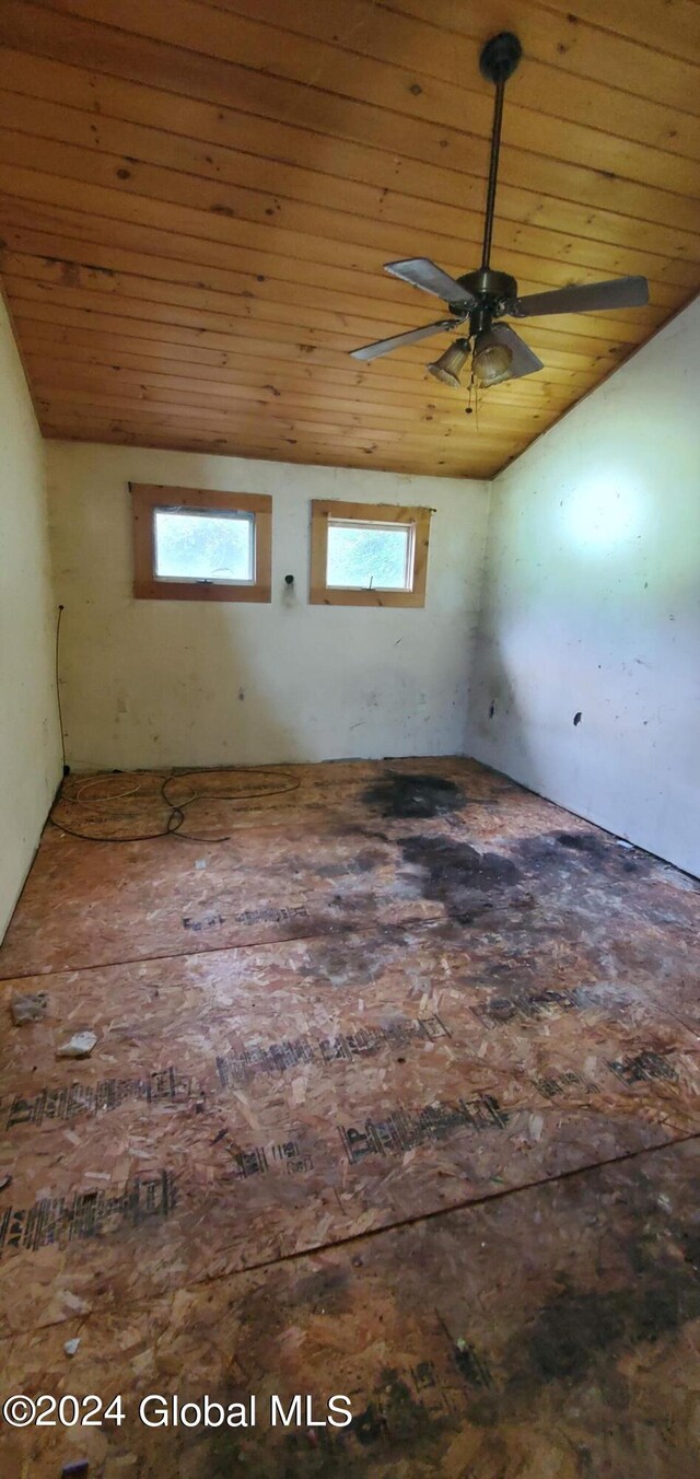
<instances>
[{"instance_id":1,"label":"sloped ceiling of varnished knotty wood planks","mask_svg":"<svg viewBox=\"0 0 700 1479\"><path fill-rule=\"evenodd\" d=\"M574 6L576 13L571 13ZM627 272L648 308L531 319L477 416L348 351L440 317L382 263ZM47 436L490 476L700 287L697 0L3 0L1 274ZM432 309L437 309L434 314Z\"/></svg>"}]
</instances>

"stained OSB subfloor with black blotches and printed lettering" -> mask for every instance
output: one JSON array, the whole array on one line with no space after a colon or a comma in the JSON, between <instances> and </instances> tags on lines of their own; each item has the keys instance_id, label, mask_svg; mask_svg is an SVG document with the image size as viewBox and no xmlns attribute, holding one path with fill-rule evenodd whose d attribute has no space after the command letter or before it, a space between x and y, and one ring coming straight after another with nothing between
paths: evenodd
<instances>
[{"instance_id":1,"label":"stained OSB subfloor with black blotches and printed lettering","mask_svg":"<svg viewBox=\"0 0 700 1479\"><path fill-rule=\"evenodd\" d=\"M158 831L161 779L56 815ZM7 1393L126 1411L1 1427L1 1472L696 1479L700 886L462 760L194 793L197 842L49 828L0 950L4 1009L47 994L0 1047Z\"/></svg>"}]
</instances>

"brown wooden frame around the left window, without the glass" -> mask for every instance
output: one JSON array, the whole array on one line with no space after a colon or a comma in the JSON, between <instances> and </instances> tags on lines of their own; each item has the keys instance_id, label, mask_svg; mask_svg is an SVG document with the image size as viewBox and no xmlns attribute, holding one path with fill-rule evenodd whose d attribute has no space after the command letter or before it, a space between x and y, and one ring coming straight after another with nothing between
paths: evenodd
<instances>
[{"instance_id":1,"label":"brown wooden frame around the left window, without the glass","mask_svg":"<svg viewBox=\"0 0 700 1479\"><path fill-rule=\"evenodd\" d=\"M133 525L133 595L138 600L271 600L272 596L272 498L259 493L212 493L209 488L169 488L130 482ZM255 581L238 584L213 580L158 580L155 575L154 515L164 509L181 513L255 515Z\"/></svg>"}]
</instances>

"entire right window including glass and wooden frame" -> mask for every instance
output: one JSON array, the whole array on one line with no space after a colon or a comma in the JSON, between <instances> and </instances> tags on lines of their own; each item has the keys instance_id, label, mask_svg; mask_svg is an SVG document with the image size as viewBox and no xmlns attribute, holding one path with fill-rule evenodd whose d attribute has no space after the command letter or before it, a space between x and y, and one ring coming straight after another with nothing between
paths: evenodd
<instances>
[{"instance_id":1,"label":"entire right window including glass and wooden frame","mask_svg":"<svg viewBox=\"0 0 700 1479\"><path fill-rule=\"evenodd\" d=\"M311 602L425 606L431 509L311 504Z\"/></svg>"}]
</instances>

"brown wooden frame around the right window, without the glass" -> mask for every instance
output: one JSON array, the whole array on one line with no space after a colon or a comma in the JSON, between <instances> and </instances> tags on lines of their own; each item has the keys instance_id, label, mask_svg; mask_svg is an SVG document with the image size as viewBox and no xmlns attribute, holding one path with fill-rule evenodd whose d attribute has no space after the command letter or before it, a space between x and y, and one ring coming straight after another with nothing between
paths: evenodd
<instances>
[{"instance_id":1,"label":"brown wooden frame around the right window, without the glass","mask_svg":"<svg viewBox=\"0 0 700 1479\"><path fill-rule=\"evenodd\" d=\"M312 606L425 606L428 547L432 509L405 509L394 503L339 503L336 498L314 498L311 503L311 583ZM348 524L413 524L413 587L411 590L358 590L326 584L329 556L329 519Z\"/></svg>"}]
</instances>

